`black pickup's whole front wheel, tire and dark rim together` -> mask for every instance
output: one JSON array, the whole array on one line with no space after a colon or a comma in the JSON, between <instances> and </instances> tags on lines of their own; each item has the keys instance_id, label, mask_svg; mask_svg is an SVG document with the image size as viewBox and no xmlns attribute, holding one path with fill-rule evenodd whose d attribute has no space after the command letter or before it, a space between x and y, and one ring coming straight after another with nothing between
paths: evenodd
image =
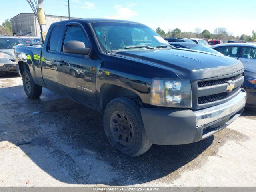
<instances>
[{"instance_id":1,"label":"black pickup's whole front wheel, tire and dark rim together","mask_svg":"<svg viewBox=\"0 0 256 192\"><path fill-rule=\"evenodd\" d=\"M139 106L128 98L116 98L104 111L104 128L110 144L126 156L139 156L150 149Z\"/></svg>"}]
</instances>

